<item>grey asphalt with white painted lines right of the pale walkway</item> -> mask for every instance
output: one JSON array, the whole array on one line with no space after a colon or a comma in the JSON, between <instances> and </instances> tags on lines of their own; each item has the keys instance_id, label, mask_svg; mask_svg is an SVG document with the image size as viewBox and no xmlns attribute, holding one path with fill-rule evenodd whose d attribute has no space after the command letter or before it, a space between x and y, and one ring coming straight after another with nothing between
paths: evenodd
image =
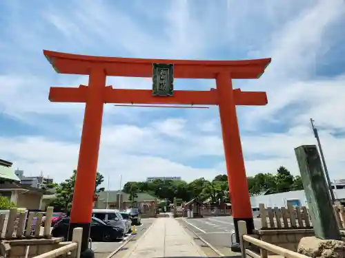
<instances>
[{"instance_id":1,"label":"grey asphalt with white painted lines right of the pale walkway","mask_svg":"<svg viewBox=\"0 0 345 258\"><path fill-rule=\"evenodd\" d=\"M227 255L231 246L231 234L235 232L233 217L204 217L179 220L181 224L193 231L198 237ZM259 228L261 226L260 219L254 218L254 225L255 228Z\"/></svg>"}]
</instances>

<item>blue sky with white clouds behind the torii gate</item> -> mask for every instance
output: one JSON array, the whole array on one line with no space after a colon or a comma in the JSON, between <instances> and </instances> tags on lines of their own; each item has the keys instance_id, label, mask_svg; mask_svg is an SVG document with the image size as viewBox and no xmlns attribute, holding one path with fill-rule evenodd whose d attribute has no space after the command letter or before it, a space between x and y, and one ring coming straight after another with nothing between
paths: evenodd
<instances>
[{"instance_id":1,"label":"blue sky with white clouds behind the torii gate","mask_svg":"<svg viewBox=\"0 0 345 258\"><path fill-rule=\"evenodd\" d=\"M0 158L26 175L68 178L77 164L83 104L50 103L49 87L88 83L56 74L42 50L97 56L239 60L271 57L259 80L265 107L237 107L248 175L286 166L293 149L315 144L319 126L331 178L344 178L344 1L1 1ZM108 77L108 85L150 89L148 78ZM175 80L210 89L213 80ZM225 173L217 107L150 109L106 105L99 171L110 187L148 176L185 180Z\"/></svg>"}]
</instances>

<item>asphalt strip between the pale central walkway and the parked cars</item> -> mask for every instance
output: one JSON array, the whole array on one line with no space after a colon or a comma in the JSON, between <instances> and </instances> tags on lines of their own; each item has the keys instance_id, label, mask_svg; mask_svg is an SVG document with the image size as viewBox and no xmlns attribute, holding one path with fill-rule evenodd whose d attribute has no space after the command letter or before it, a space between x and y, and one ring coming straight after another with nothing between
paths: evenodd
<instances>
[{"instance_id":1,"label":"asphalt strip between the pale central walkway and the parked cars","mask_svg":"<svg viewBox=\"0 0 345 258\"><path fill-rule=\"evenodd\" d=\"M141 225L136 226L137 238L141 237L145 230L151 226L153 220L154 219L141 219ZM130 235L127 235L124 239L119 239L117 241L112 242L92 242L92 250L94 250L96 257L106 257L111 252L119 248L121 244L124 244L124 241L126 241L128 237L130 237Z\"/></svg>"}]
</instances>

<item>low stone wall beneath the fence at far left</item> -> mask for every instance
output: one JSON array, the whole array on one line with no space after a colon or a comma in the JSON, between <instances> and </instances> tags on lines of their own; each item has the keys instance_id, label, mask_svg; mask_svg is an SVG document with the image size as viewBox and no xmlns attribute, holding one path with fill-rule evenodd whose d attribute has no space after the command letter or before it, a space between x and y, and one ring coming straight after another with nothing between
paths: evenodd
<instances>
[{"instance_id":1,"label":"low stone wall beneath the fence at far left","mask_svg":"<svg viewBox=\"0 0 345 258\"><path fill-rule=\"evenodd\" d=\"M54 237L52 239L5 240L3 241L3 244L10 245L10 250L8 250L7 258L25 258L27 246L30 246L28 258L32 258L61 247L62 241L62 237Z\"/></svg>"}]
</instances>

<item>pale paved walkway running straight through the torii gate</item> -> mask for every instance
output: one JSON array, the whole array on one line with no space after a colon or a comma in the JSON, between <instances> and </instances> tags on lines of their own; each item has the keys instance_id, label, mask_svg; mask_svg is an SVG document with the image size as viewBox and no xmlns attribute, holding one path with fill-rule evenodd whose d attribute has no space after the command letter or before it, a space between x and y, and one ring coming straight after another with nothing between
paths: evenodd
<instances>
[{"instance_id":1,"label":"pale paved walkway running straight through the torii gate","mask_svg":"<svg viewBox=\"0 0 345 258\"><path fill-rule=\"evenodd\" d=\"M206 257L186 230L172 217L156 219L124 258Z\"/></svg>"}]
</instances>

